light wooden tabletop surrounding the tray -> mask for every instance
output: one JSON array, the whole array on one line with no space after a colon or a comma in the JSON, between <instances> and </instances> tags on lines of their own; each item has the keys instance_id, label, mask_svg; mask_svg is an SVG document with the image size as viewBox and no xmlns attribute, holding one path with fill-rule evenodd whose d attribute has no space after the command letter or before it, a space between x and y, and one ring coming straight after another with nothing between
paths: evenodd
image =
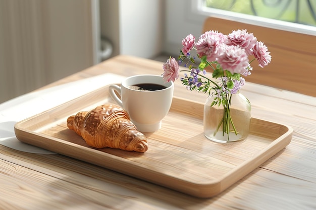
<instances>
[{"instance_id":1,"label":"light wooden tabletop surrounding the tray","mask_svg":"<svg viewBox=\"0 0 316 210\"><path fill-rule=\"evenodd\" d=\"M119 55L41 89L104 73L161 75L163 69L159 61ZM316 209L316 98L252 83L241 92L251 102L252 117L291 126L292 142L213 198L195 198L59 154L0 145L0 209ZM206 99L180 81L174 95Z\"/></svg>"}]
</instances>

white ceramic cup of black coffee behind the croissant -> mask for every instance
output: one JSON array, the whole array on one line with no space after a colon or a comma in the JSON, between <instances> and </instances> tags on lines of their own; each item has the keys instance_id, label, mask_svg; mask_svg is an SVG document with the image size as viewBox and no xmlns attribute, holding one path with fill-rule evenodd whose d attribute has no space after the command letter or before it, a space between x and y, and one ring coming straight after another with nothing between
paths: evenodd
<instances>
[{"instance_id":1,"label":"white ceramic cup of black coffee behind the croissant","mask_svg":"<svg viewBox=\"0 0 316 210\"><path fill-rule=\"evenodd\" d=\"M131 86L137 84L157 84L166 88L151 91L131 89ZM173 89L173 82L166 82L159 75L132 76L123 80L121 87L109 87L112 99L127 111L131 121L141 132L153 132L161 128L162 119L171 107Z\"/></svg>"}]
</instances>

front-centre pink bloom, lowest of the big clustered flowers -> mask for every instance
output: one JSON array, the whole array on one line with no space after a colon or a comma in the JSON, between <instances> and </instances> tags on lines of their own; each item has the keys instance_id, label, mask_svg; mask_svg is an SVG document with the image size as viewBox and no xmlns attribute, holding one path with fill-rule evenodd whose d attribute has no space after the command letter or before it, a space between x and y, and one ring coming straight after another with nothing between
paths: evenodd
<instances>
[{"instance_id":1,"label":"front-centre pink bloom, lowest of the big clustered flowers","mask_svg":"<svg viewBox=\"0 0 316 210\"><path fill-rule=\"evenodd\" d=\"M234 45L227 45L223 54L218 58L218 63L224 70L232 74L242 74L248 66L248 56L243 48Z\"/></svg>"}]
</instances>

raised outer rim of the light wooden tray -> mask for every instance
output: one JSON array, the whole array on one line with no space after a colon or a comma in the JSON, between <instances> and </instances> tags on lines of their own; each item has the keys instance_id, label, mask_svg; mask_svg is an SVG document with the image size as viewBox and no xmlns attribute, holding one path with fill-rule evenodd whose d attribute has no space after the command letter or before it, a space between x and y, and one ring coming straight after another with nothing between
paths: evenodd
<instances>
[{"instance_id":1,"label":"raised outer rim of the light wooden tray","mask_svg":"<svg viewBox=\"0 0 316 210\"><path fill-rule=\"evenodd\" d=\"M26 144L31 144L31 145L34 145L34 146L37 146L37 147L41 147L41 148L44 148L44 149L47 149L47 150L51 150L51 148L49 146L45 145L45 144L39 145L39 144L36 144L36 143L34 144L34 142L30 141L30 139L32 139L32 137L39 136L39 137L41 137L43 139L46 139L46 141L42 141L43 143L48 143L49 141L52 141L53 143L64 144L66 146L64 148L64 150L65 149L74 149L75 151L78 150L78 151L81 151L81 152L85 152L85 154L89 154L89 152L92 150L94 153L99 154L100 157L107 157L107 158L110 158L112 161L119 161L120 163L122 163L122 158L118 157L116 155L112 155L112 154L106 153L104 151L99 151L97 149L93 149L93 148L90 148L90 147L81 146L81 145L78 145L78 144L75 144L75 143L72 143L72 142L65 141L63 139L56 138L54 136L48 136L48 135L43 134L43 133L37 133L35 131L28 130L27 128L23 127L23 124L28 122L29 120L32 120L34 118L36 119L37 117L42 116L43 114L48 113L51 110L56 110L56 109L58 109L60 107L66 106L67 104L75 103L77 100L80 100L82 97L91 95L93 93L97 93L100 90L106 89L108 87L109 87L109 85L108 86L104 86L104 87L102 87L100 89L97 89L97 90L92 91L90 93L87 93L87 94L85 94L83 96L80 96L78 98L70 100L70 101L68 101L66 103L63 103L63 104L59 105L59 106L56 106L56 107L51 108L51 109L48 109L48 110L46 110L44 112L38 113L38 114L36 114L34 116L31 116L29 118L26 118L24 120L21 120L21 121L17 122L15 124L15 126L14 126L17 138L19 139L19 141L24 142ZM188 100L188 99L180 98L180 97L175 97L175 96L173 97L173 103L181 103L181 101L182 102L186 101L188 103L194 103L194 104L198 104L199 106L204 106L204 104L200 103L200 102L195 102L195 101L192 101L192 100ZM201 183L188 182L186 180L182 180L182 179L180 180L180 179L177 179L176 177L170 177L170 176L168 177L167 175L165 175L171 181L172 180L177 180L177 181L181 181L183 183L186 183L187 186L180 187L180 188L178 186L173 186L174 184L172 182L170 182L170 185L172 185L172 186L170 186L170 185L164 183L163 181L159 181L159 179L153 181L152 179L154 179L154 177L151 177L150 179L148 179L146 177L139 176L138 173L136 173L136 174L133 173L133 172L132 173L126 173L126 170L122 171L122 170L119 170L116 167L111 167L111 166L104 167L104 165L100 165L97 162L95 162L95 163L94 162L88 162L86 160L87 158L80 158L80 157L69 155L69 154L67 154L67 152L64 152L64 150L58 150L58 151L51 150L51 151L57 152L59 154L62 154L62 155L65 155L65 156L69 156L69 157L72 157L72 158L75 158L75 159L78 159L78 160L81 160L81 161L85 161L85 162L88 162L88 163L91 163L91 164L95 164L95 165L98 165L98 166L101 166L101 167L104 167L104 168L107 168L107 169L110 169L110 170L114 170L114 171L117 171L117 172L120 172L120 173L131 175L131 176L134 176L136 178L140 178L142 180L149 181L151 183L159 184L159 185L162 185L162 186L174 189L174 190L178 190L180 192L184 192L184 193L196 196L196 197L207 198L207 197L212 197L212 196L224 191L226 188L228 188L229 186L231 186L232 184L234 184L235 182L240 180L242 177L244 177L245 175L247 175L248 173L253 171L259 165L261 165L262 163L264 163L265 161L270 159L273 155L275 155L276 153L281 151L283 148L285 148L291 142L293 128L291 128L290 126L285 125L285 124L272 122L272 121L261 120L261 119L252 117L251 121L253 122L253 120L255 120L255 121L257 120L258 122L260 122L260 121L269 122L269 123L273 123L273 124L282 126L283 129L286 129L286 132L284 132L278 138L273 139L273 141L270 144L268 144L267 147L265 147L263 150L260 150L259 153L253 155L251 158L243 161L241 164L237 165L233 169L231 169L228 172L226 172L221 178L209 180L207 183L201 184ZM21 132L23 134L26 134L26 137L23 137L23 136L21 137L21 135L20 135ZM48 140L48 142L47 142L47 140ZM274 151L274 149L273 149L274 147L277 147L277 152ZM265 154L265 153L269 153L270 154L269 158L262 157L262 156L264 156L263 154ZM246 166L249 165L249 162L252 162L254 160L255 160L255 162L257 164L255 164L253 167L246 167ZM125 160L123 158L123 163L124 163L124 165L127 165L128 164L128 160ZM135 167L136 167L139 170L144 171L145 173L146 172L150 173L150 171L152 171L152 170L143 168L140 165L135 164L135 162L133 162L133 161L132 161L132 163L133 163L132 164L133 169L135 169ZM113 164L113 165L116 165L116 164ZM247 171L244 170L245 168L247 169ZM241 172L241 173L238 173L238 172ZM237 181L234 181L234 179L230 179L230 177L233 176L233 175L234 175L234 177L236 177L236 174L238 176ZM164 179L162 179L162 180L164 180ZM224 180L226 180L226 182L224 184L222 184L221 182L223 182ZM232 180L232 181L230 181L230 180Z\"/></svg>"}]
</instances>

